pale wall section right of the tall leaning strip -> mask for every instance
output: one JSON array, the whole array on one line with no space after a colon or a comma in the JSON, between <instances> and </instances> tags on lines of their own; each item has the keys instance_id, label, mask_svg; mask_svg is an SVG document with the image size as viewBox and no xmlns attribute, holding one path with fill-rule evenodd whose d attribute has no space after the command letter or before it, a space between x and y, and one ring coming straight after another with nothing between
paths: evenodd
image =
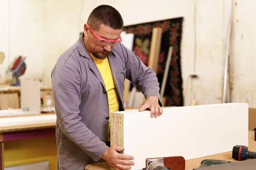
<instances>
[{"instance_id":1,"label":"pale wall section right of the tall leaning strip","mask_svg":"<svg viewBox=\"0 0 256 170\"><path fill-rule=\"evenodd\" d=\"M232 101L256 108L256 1L234 0L232 34Z\"/></svg>"}]
</instances>

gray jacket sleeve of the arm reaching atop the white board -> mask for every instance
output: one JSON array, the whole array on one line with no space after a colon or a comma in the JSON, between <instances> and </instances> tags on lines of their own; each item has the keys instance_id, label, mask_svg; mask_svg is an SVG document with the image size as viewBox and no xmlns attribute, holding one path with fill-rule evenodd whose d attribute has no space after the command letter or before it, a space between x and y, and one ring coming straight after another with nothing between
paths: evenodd
<instances>
[{"instance_id":1,"label":"gray jacket sleeve of the arm reaching atop the white board","mask_svg":"<svg viewBox=\"0 0 256 170\"><path fill-rule=\"evenodd\" d=\"M140 88L146 99L148 96L157 96L159 105L162 106L156 73L150 67L146 67L131 50L122 44L120 46L125 57L126 78Z\"/></svg>"}]
</instances>

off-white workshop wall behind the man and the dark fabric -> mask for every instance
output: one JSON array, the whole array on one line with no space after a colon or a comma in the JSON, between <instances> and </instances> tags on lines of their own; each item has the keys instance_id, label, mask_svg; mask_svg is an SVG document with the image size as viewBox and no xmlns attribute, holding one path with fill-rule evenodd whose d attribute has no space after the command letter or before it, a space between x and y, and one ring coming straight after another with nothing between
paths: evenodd
<instances>
[{"instance_id":1,"label":"off-white workshop wall behind the man and the dark fabric","mask_svg":"<svg viewBox=\"0 0 256 170\"><path fill-rule=\"evenodd\" d=\"M122 14L125 25L184 17L181 44L183 88L186 89L185 105L189 105L192 92L198 105L222 102L224 45L227 14L233 6L232 27L232 102L249 102L256 107L256 78L253 77L256 60L254 44L256 28L253 17L256 11L253 0L197 0L196 6L196 59L195 73L198 79L186 80L193 74L194 55L194 6L195 0L11 0L10 27L8 29L8 0L0 1L0 51L8 56L8 33L10 31L10 59L16 55L27 56L24 77L40 77L50 85L50 73L58 56L79 37L90 11L100 4L114 6ZM235 6L234 4L237 3ZM239 22L236 22L239 20ZM3 30L3 31L2 31ZM243 36L242 36L243 34ZM241 38L243 37L243 38ZM3 40L3 41L2 41ZM0 81L4 80L6 59L0 65Z\"/></svg>"}]
</instances>

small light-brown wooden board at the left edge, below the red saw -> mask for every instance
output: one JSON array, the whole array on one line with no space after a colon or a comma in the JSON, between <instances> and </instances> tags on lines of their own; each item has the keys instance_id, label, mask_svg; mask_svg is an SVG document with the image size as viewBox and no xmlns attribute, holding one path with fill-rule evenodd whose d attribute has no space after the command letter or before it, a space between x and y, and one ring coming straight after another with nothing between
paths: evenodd
<instances>
[{"instance_id":1,"label":"small light-brown wooden board at the left edge, below the red saw","mask_svg":"<svg viewBox=\"0 0 256 170\"><path fill-rule=\"evenodd\" d=\"M0 94L0 109L20 108L17 93Z\"/></svg>"}]
</instances>

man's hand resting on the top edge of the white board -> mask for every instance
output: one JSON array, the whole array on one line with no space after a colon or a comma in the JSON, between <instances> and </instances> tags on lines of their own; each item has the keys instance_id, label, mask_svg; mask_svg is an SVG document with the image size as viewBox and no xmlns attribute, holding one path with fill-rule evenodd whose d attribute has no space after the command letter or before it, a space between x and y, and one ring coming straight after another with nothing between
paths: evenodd
<instances>
[{"instance_id":1,"label":"man's hand resting on the top edge of the white board","mask_svg":"<svg viewBox=\"0 0 256 170\"><path fill-rule=\"evenodd\" d=\"M163 108L158 104L157 96L148 96L145 102L140 105L139 111L145 111L145 109L150 108L151 117L157 118L163 113Z\"/></svg>"}]
</instances>

